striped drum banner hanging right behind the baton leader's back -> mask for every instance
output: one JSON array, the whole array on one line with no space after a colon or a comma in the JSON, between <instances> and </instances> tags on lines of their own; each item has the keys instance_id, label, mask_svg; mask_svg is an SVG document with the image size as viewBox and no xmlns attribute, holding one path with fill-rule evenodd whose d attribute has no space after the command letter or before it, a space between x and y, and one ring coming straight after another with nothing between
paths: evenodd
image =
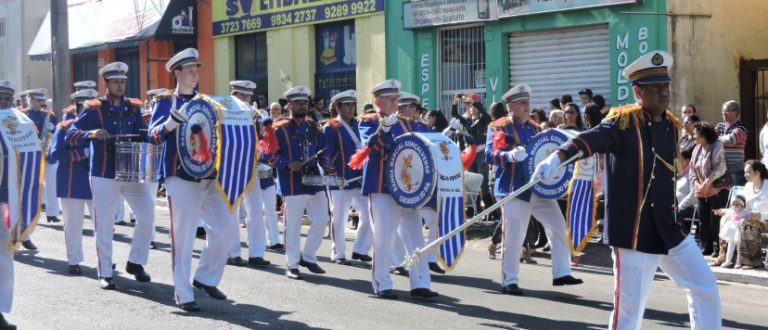
<instances>
[{"instance_id":1,"label":"striped drum banner hanging right behind the baton leader's back","mask_svg":"<svg viewBox=\"0 0 768 330\"><path fill-rule=\"evenodd\" d=\"M584 250L597 222L597 180L600 156L594 155L576 164L568 185L566 234L571 241L571 254Z\"/></svg>"}]
</instances>

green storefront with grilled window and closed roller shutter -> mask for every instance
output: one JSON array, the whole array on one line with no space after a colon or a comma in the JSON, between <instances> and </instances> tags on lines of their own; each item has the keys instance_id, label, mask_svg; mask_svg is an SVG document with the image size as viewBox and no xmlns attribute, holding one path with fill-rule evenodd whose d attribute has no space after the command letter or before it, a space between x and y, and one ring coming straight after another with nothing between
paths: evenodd
<instances>
[{"instance_id":1,"label":"green storefront with grilled window and closed roller shutter","mask_svg":"<svg viewBox=\"0 0 768 330\"><path fill-rule=\"evenodd\" d=\"M537 1L510 2L536 6ZM631 103L631 86L621 70L644 53L667 47L664 0L569 1L591 7L484 21L444 18L439 26L405 29L404 20L412 16L406 7L416 3L386 2L387 77L399 79L403 90L421 96L430 109L446 110L451 95L464 91L478 92L489 105L517 83L531 85L534 96L539 94L532 106L545 109L544 100L552 96L568 93L578 100L581 88L592 88L611 105Z\"/></svg>"}]
</instances>

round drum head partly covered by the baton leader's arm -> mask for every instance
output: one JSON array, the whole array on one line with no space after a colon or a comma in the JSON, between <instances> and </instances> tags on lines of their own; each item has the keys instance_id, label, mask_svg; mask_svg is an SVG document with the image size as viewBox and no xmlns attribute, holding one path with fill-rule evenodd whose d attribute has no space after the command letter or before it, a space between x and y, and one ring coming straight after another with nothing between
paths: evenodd
<instances>
[{"instance_id":1,"label":"round drum head partly covered by the baton leader's arm","mask_svg":"<svg viewBox=\"0 0 768 330\"><path fill-rule=\"evenodd\" d=\"M557 129L548 129L536 134L526 145L528 158L525 159L525 169L528 171L529 177L533 175L533 170L536 169L537 164L575 135L575 132ZM531 190L536 196L541 198L553 199L563 197L568 190L568 183L573 176L573 169L573 163L560 168L553 178L539 182Z\"/></svg>"}]
</instances>

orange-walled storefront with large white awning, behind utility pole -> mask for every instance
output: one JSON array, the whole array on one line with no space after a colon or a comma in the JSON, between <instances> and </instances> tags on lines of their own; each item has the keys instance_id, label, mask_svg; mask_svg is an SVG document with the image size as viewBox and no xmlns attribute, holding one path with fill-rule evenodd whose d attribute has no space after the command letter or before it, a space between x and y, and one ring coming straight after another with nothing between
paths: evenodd
<instances>
[{"instance_id":1,"label":"orange-walled storefront with large white awning, behind utility pole","mask_svg":"<svg viewBox=\"0 0 768 330\"><path fill-rule=\"evenodd\" d=\"M126 86L129 97L144 98L149 89L173 87L175 82L165 71L165 62L177 51L197 47L197 26L202 19L198 16L205 16L204 8L195 0L160 1L138 6L123 0L70 1L72 81L97 81L104 92L99 68L120 61L130 68ZM207 16L210 22L210 8ZM201 50L201 56L204 53ZM33 60L50 61L50 54L49 13L40 25L28 55Z\"/></svg>"}]
</instances>

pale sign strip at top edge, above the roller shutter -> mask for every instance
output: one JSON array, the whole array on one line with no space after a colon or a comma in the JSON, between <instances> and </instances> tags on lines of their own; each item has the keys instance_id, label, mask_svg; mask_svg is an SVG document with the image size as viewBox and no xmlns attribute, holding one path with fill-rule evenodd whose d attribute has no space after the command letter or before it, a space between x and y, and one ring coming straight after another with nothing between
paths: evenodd
<instances>
[{"instance_id":1,"label":"pale sign strip at top edge, above the roller shutter","mask_svg":"<svg viewBox=\"0 0 768 330\"><path fill-rule=\"evenodd\" d=\"M642 0L498 0L499 18L640 3Z\"/></svg>"}]
</instances>

